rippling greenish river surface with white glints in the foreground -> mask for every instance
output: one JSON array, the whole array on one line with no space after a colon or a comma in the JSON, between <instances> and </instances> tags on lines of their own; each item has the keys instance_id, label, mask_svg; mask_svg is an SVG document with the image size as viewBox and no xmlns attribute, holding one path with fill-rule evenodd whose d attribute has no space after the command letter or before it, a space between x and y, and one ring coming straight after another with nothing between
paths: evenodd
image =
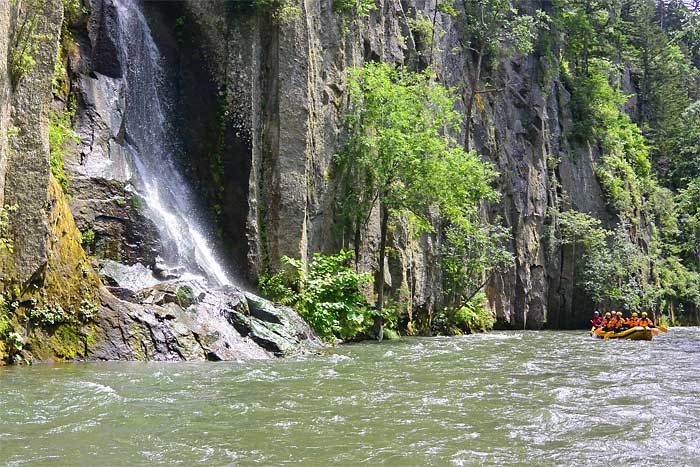
<instances>
[{"instance_id":1,"label":"rippling greenish river surface with white glints in the foreground","mask_svg":"<svg viewBox=\"0 0 700 467\"><path fill-rule=\"evenodd\" d=\"M1 465L700 466L700 328L0 368Z\"/></svg>"}]
</instances>

